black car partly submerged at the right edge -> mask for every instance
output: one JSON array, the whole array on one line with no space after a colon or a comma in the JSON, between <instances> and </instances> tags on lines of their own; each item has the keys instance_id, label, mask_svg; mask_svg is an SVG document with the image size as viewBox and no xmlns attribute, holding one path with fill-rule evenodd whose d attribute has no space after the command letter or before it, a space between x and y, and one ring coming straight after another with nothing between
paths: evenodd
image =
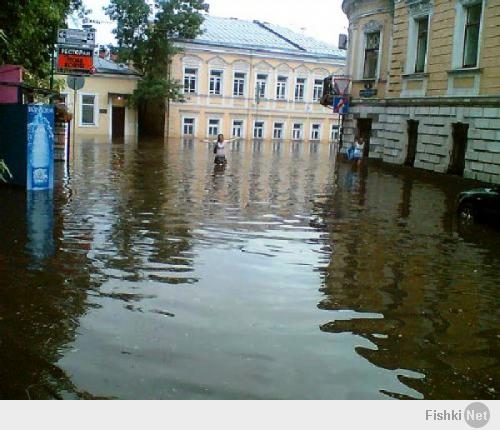
<instances>
[{"instance_id":1,"label":"black car partly submerged at the right edge","mask_svg":"<svg viewBox=\"0 0 500 430\"><path fill-rule=\"evenodd\" d=\"M457 213L463 222L491 222L500 225L500 186L476 188L460 193Z\"/></svg>"}]
</instances>

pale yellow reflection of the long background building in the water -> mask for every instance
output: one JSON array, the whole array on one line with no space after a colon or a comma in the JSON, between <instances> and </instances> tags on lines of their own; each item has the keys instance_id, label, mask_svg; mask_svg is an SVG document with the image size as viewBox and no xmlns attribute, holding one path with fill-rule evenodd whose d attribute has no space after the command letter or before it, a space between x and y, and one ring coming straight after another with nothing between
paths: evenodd
<instances>
[{"instance_id":1,"label":"pale yellow reflection of the long background building in the water","mask_svg":"<svg viewBox=\"0 0 500 430\"><path fill-rule=\"evenodd\" d=\"M213 172L213 154L200 144L195 144L189 154L179 152L174 142L166 151L172 165L182 166L173 172L176 177L184 177L182 188L177 189L181 193L179 198L202 205L199 210L203 212L206 205L211 206L212 195L205 181L207 171ZM308 212L310 200L329 186L335 174L335 159L330 159L329 145L318 144L313 149L310 145L252 140L240 141L235 149L228 145L226 180L217 181L219 202L230 202L231 210L238 211L232 215L240 216L250 216L255 203L273 205L273 211L280 212L280 216ZM217 204L212 209L224 211L225 206Z\"/></svg>"}]
</instances>

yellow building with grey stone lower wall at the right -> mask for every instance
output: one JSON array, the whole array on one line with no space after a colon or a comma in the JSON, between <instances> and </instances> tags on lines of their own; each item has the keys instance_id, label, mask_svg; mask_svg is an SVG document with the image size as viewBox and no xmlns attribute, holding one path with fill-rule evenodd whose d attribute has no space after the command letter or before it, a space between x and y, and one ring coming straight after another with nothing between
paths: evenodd
<instances>
[{"instance_id":1,"label":"yellow building with grey stone lower wall at the right","mask_svg":"<svg viewBox=\"0 0 500 430\"><path fill-rule=\"evenodd\" d=\"M500 0L344 0L344 141L386 162L500 183Z\"/></svg>"}]
</instances>

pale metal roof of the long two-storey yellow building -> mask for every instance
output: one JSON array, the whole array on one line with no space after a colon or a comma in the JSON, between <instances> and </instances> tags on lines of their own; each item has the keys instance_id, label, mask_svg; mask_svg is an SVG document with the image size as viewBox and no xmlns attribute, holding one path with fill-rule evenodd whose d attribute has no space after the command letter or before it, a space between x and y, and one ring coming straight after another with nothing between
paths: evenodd
<instances>
[{"instance_id":1,"label":"pale metal roof of the long two-storey yellow building","mask_svg":"<svg viewBox=\"0 0 500 430\"><path fill-rule=\"evenodd\" d=\"M346 53L328 43L262 21L205 16L203 33L193 43L229 48L283 52L345 60Z\"/></svg>"}]
</instances>

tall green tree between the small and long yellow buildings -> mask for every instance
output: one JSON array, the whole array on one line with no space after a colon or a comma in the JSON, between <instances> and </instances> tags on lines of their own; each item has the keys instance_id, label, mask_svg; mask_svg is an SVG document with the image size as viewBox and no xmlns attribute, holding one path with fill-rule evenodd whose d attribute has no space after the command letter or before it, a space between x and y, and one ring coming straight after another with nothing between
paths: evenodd
<instances>
[{"instance_id":1,"label":"tall green tree between the small and long yellow buildings","mask_svg":"<svg viewBox=\"0 0 500 430\"><path fill-rule=\"evenodd\" d=\"M118 55L144 76L131 99L133 104L158 98L182 99L181 85L169 76L172 58L180 52L174 42L200 34L201 12L206 8L201 0L158 1L150 23L151 10L144 0L111 0L105 11L117 23Z\"/></svg>"}]
</instances>

